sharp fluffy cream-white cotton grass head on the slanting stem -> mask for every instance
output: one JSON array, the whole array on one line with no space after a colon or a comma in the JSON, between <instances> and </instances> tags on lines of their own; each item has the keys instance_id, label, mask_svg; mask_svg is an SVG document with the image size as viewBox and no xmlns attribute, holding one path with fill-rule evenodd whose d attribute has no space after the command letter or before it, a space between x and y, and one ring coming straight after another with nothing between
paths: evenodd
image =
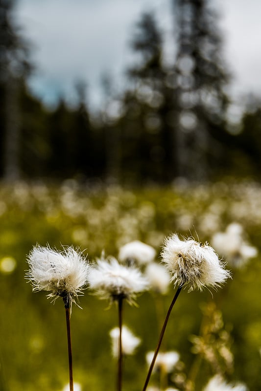
<instances>
[{"instance_id":1,"label":"sharp fluffy cream-white cotton grass head on the slanting stem","mask_svg":"<svg viewBox=\"0 0 261 391\"><path fill-rule=\"evenodd\" d=\"M177 234L165 239L161 253L171 281L179 286L188 285L189 291L206 286L217 287L230 277L214 249L193 239L180 240Z\"/></svg>"}]
</instances>

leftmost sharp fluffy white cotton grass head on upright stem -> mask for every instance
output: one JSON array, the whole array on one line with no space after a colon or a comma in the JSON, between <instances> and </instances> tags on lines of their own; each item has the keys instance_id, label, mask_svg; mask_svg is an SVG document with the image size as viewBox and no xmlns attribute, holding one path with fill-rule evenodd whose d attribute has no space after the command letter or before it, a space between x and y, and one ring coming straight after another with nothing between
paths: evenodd
<instances>
[{"instance_id":1,"label":"leftmost sharp fluffy white cotton grass head on upright stem","mask_svg":"<svg viewBox=\"0 0 261 391\"><path fill-rule=\"evenodd\" d=\"M50 291L47 297L53 301L61 297L68 307L75 303L87 283L88 262L72 247L60 252L48 246L35 246L27 261L26 278L32 283L33 291Z\"/></svg>"}]
</instances>

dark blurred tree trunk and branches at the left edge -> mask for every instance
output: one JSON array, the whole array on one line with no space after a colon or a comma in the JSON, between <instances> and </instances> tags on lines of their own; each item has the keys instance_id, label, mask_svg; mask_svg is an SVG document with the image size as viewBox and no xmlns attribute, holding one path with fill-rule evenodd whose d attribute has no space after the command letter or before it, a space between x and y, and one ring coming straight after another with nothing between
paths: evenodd
<instances>
[{"instance_id":1,"label":"dark blurred tree trunk and branches at the left edge","mask_svg":"<svg viewBox=\"0 0 261 391\"><path fill-rule=\"evenodd\" d=\"M20 176L20 99L24 75L29 70L27 47L14 23L14 1L0 0L1 167L8 180Z\"/></svg>"}]
</instances>

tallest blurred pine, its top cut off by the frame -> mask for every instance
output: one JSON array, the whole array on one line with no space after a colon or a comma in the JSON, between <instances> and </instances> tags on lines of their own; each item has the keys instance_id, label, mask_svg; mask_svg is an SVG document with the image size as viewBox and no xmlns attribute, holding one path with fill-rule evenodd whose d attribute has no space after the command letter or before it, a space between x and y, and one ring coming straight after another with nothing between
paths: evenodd
<instances>
[{"instance_id":1,"label":"tallest blurred pine, its top cut off by the frame","mask_svg":"<svg viewBox=\"0 0 261 391\"><path fill-rule=\"evenodd\" d=\"M221 58L217 14L209 0L174 0L178 50L179 175L202 180L210 162L218 164L215 145L224 131L228 73Z\"/></svg>"}]
</instances>

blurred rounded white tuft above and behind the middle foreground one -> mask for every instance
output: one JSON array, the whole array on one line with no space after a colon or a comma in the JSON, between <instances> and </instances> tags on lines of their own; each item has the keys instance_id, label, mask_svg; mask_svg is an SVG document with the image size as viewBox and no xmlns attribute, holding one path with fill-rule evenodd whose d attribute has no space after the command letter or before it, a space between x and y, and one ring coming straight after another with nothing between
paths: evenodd
<instances>
[{"instance_id":1,"label":"blurred rounded white tuft above and behind the middle foreground one","mask_svg":"<svg viewBox=\"0 0 261 391\"><path fill-rule=\"evenodd\" d=\"M138 265L144 265L154 261L155 256L155 249L139 240L124 244L119 249L120 262L136 262Z\"/></svg>"}]
</instances>

